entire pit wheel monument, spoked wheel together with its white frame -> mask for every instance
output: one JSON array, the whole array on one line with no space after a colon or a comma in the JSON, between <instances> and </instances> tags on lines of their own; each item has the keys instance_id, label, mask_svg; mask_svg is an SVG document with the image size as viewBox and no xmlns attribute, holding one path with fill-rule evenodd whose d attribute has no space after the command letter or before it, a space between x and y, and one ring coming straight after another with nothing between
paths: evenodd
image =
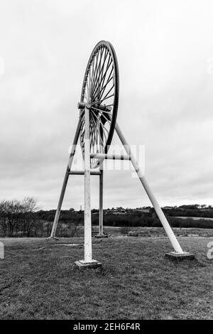
<instances>
[{"instance_id":1,"label":"entire pit wheel monument, spoked wheel together with its white frame","mask_svg":"<svg viewBox=\"0 0 213 334\"><path fill-rule=\"evenodd\" d=\"M111 43L99 42L92 55L84 75L82 86L80 109L80 119L72 145L72 151L67 163L65 178L62 184L58 208L55 213L55 220L50 238L55 237L62 201L65 195L67 180L70 175L84 175L84 259L79 263L82 265L94 264L92 259L92 222L91 222L91 199L90 199L90 175L99 175L99 236L103 231L103 178L104 173L102 163L104 159L129 160L136 170L143 188L146 190L148 198L151 200L155 212L162 223L168 238L170 239L176 254L185 254L176 239L168 220L158 204L151 188L149 187L143 171L133 156L131 148L122 134L119 125L116 123L116 114L119 102L119 69L116 54ZM106 104L107 103L107 104ZM114 129L124 146L126 155L107 153L114 134ZM75 148L80 137L80 144L84 158L84 171L71 171ZM90 168L99 167L99 171ZM100 264L97 262L97 264Z\"/></svg>"}]
</instances>

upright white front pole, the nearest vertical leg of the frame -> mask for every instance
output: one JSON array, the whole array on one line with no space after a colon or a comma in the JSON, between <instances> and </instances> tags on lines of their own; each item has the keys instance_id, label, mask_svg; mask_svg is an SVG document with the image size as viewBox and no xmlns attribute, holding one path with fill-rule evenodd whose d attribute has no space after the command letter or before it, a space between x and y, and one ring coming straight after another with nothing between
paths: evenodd
<instances>
[{"instance_id":1,"label":"upright white front pole, the nearest vertical leg of the frame","mask_svg":"<svg viewBox=\"0 0 213 334\"><path fill-rule=\"evenodd\" d=\"M90 205L89 109L84 108L84 262L92 262L92 223Z\"/></svg>"}]
</instances>

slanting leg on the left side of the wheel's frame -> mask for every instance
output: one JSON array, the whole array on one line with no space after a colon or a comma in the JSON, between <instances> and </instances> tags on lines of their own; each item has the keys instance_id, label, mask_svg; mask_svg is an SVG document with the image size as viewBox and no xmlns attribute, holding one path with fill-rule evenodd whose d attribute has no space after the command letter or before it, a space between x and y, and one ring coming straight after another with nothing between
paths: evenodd
<instances>
[{"instance_id":1,"label":"slanting leg on the left side of the wheel's frame","mask_svg":"<svg viewBox=\"0 0 213 334\"><path fill-rule=\"evenodd\" d=\"M74 157L74 154L75 154L77 140L78 140L78 137L79 137L79 134L80 134L80 124L81 124L81 122L80 122L80 119L79 119L78 124L77 124L77 129L75 131L75 137L74 137L73 144L72 144L72 150L71 150L71 153L70 153L70 158L68 160L67 169L65 171L65 178L64 178L64 181L62 183L62 190L60 192L60 198L59 198L59 201L58 201L58 208L55 212L55 219L54 219L54 222L53 222L53 227L52 227L50 238L55 237L55 232L56 232L57 225L58 225L58 220L59 220L59 216L60 216L62 201L63 201L64 196L65 196L67 181L68 181L69 174L70 174L70 168L72 166L72 160L73 160L73 157Z\"/></svg>"}]
</instances>

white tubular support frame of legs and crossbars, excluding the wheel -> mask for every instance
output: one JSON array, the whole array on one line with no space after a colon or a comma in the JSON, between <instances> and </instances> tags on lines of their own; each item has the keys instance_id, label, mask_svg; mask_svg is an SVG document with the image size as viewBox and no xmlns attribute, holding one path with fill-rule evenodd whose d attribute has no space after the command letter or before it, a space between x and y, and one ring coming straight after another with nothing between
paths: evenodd
<instances>
[{"instance_id":1,"label":"white tubular support frame of legs and crossbars, excluding the wheel","mask_svg":"<svg viewBox=\"0 0 213 334\"><path fill-rule=\"evenodd\" d=\"M84 134L84 262L92 262L92 225L91 225L91 208L90 208L90 173L94 175L99 175L99 235L103 235L103 170L100 169L100 171L90 171L90 158L116 158L124 160L131 160L131 163L133 164L133 167L135 168L135 171L138 175L139 180L141 181L143 188L146 190L146 193L148 195L148 198L151 200L151 203L153 204L153 208L155 209L155 212L157 213L160 222L162 223L164 230L166 234L168 235L168 238L170 239L171 244L173 245L173 248L175 249L175 252L178 252L179 254L184 254L182 251L182 248L180 247L180 244L178 242L178 239L175 237L175 234L170 227L168 220L166 219L163 211L160 208L160 205L158 204L158 201L156 200L155 196L153 195L153 192L151 191L151 188L149 187L146 178L143 175L143 172L138 165L138 162L136 161L136 158L133 156L133 153L131 151L131 148L129 144L127 143L124 134L122 133L119 125L116 123L116 133L119 136L119 139L121 140L121 143L124 146L124 149L126 151L127 156L119 156L119 155L109 155L104 153L99 154L93 154L89 152L90 147L90 141L89 141L89 109L85 107L84 109L85 115L85 134ZM78 131L78 127L77 127ZM76 143L77 144L77 143ZM74 146L73 146L74 147ZM75 153L75 151L74 151ZM71 158L69 159L68 166L69 168L72 165L72 159L74 156L74 153L72 155L72 152L70 154ZM82 174L83 171L69 171L69 174ZM67 177L67 176L65 176ZM66 180L66 178L65 178ZM65 183L65 181L64 181ZM65 185L67 184L67 181ZM62 195L60 196L63 198L65 193L65 186L63 184L62 187ZM60 201L59 205L61 208L62 200ZM58 216L56 216L58 218ZM55 218L55 221L56 221ZM54 224L55 224L54 221ZM57 227L58 220L56 222L56 225L53 224L53 230L51 233L51 237L55 237L55 230Z\"/></svg>"}]
</instances>

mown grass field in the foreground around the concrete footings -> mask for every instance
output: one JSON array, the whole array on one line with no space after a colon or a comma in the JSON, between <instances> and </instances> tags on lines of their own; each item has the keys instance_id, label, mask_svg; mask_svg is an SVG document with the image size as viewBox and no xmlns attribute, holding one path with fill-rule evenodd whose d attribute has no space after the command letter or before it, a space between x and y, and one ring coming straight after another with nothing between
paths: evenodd
<instances>
[{"instance_id":1,"label":"mown grass field in the foreground around the concrete footings","mask_svg":"<svg viewBox=\"0 0 213 334\"><path fill-rule=\"evenodd\" d=\"M102 269L78 269L82 238L1 239L1 319L212 319L212 237L180 237L192 262L170 262L168 239L93 239Z\"/></svg>"}]
</instances>

